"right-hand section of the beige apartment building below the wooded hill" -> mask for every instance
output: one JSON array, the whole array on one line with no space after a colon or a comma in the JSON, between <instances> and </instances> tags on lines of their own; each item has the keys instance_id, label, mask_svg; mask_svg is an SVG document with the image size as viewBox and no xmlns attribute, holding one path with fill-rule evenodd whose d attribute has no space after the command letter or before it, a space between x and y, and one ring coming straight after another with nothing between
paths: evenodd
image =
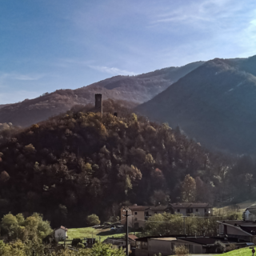
<instances>
[{"instance_id":1,"label":"right-hand section of the beige apartment building below the wooded hill","mask_svg":"<svg viewBox=\"0 0 256 256\"><path fill-rule=\"evenodd\" d=\"M213 206L207 202L176 202L170 203L169 206L172 214L182 214L183 216L194 214L201 217L213 215Z\"/></svg>"}]
</instances>

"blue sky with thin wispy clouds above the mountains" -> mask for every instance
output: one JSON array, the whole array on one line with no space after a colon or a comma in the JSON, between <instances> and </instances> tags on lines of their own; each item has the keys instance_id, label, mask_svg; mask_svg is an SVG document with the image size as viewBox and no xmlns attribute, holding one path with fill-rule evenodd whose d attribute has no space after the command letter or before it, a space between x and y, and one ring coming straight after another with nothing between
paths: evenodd
<instances>
[{"instance_id":1,"label":"blue sky with thin wispy clouds above the mountains","mask_svg":"<svg viewBox=\"0 0 256 256\"><path fill-rule=\"evenodd\" d=\"M254 54L254 0L0 1L0 104Z\"/></svg>"}]
</instances>

